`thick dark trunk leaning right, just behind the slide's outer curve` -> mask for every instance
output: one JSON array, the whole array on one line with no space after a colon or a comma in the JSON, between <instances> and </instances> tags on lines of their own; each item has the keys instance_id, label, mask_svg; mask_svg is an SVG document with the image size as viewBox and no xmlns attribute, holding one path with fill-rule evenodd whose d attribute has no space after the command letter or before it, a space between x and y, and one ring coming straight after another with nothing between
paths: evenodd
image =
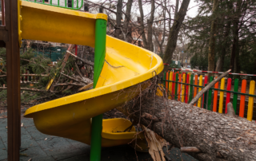
<instances>
[{"instance_id":1,"label":"thick dark trunk leaning right, just behind the slide's outer curve","mask_svg":"<svg viewBox=\"0 0 256 161\"><path fill-rule=\"evenodd\" d=\"M178 39L178 32L179 29L181 29L182 26L182 22L186 16L186 10L187 7L190 4L190 0L183 0L182 1L182 6L181 8L178 10L178 14L177 17L174 20L174 24L173 26L170 28L170 34L168 37L168 42L166 45L166 51L164 53L163 59L162 61L164 63L171 63L172 57L173 57L173 53L174 50L176 48L177 45L177 39ZM168 71L168 65L165 66L164 70L162 71L162 73Z\"/></svg>"}]
</instances>

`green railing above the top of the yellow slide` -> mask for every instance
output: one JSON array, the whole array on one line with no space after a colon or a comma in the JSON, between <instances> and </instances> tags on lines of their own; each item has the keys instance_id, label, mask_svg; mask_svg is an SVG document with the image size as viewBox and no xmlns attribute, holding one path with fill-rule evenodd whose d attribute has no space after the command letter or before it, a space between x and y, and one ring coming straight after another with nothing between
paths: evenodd
<instances>
[{"instance_id":1,"label":"green railing above the top of the yellow slide","mask_svg":"<svg viewBox=\"0 0 256 161\"><path fill-rule=\"evenodd\" d=\"M35 2L35 3L40 3L40 4L44 4L44 5L48 5L48 6L57 6L60 8L65 8L65 9L70 9L70 10L80 10L82 8L82 2L79 6L79 0L23 0L23 1L28 1L28 2ZM63 2L63 6L61 6L61 3ZM71 3L71 6L69 6L69 2Z\"/></svg>"}]
</instances>

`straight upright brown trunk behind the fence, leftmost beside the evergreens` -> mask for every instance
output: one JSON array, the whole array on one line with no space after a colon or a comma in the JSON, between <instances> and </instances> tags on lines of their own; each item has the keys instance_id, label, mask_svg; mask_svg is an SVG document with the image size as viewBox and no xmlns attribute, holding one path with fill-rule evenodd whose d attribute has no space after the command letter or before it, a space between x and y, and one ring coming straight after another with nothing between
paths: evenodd
<instances>
[{"instance_id":1,"label":"straight upright brown trunk behind the fence, leftmost beside the evergreens","mask_svg":"<svg viewBox=\"0 0 256 161\"><path fill-rule=\"evenodd\" d=\"M214 65L215 65L215 34L216 34L216 12L218 10L218 0L214 0L213 6L213 20L210 26L210 41L209 41L209 53L208 53L208 71L214 72ZM214 73L209 73L209 77L213 76Z\"/></svg>"}]
</instances>

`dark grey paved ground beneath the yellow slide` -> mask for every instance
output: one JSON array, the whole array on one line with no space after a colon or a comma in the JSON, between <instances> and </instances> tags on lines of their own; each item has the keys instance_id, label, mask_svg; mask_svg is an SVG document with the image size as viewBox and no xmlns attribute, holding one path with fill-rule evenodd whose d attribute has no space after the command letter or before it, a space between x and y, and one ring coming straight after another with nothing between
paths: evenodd
<instances>
[{"instance_id":1,"label":"dark grey paved ground beneath the yellow slide","mask_svg":"<svg viewBox=\"0 0 256 161\"><path fill-rule=\"evenodd\" d=\"M6 112L0 116L7 116ZM1 117L0 117L1 118ZM72 139L45 135L34 126L32 119L22 118L22 146L20 160L27 161L90 161L90 146ZM0 161L7 160L7 118L0 119ZM196 160L178 148L168 151L170 160ZM137 154L137 155L136 155ZM102 161L151 161L148 153L136 152L129 145L103 147ZM138 156L138 159L137 159ZM167 160L167 159L166 159Z\"/></svg>"}]
</instances>

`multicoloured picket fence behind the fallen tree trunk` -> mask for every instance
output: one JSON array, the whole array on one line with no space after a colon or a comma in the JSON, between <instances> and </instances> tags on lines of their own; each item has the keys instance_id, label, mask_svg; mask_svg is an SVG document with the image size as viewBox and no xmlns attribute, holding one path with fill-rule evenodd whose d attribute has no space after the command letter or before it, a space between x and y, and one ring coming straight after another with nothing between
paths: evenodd
<instances>
[{"instance_id":1,"label":"multicoloured picket fence behind the fallen tree trunk","mask_svg":"<svg viewBox=\"0 0 256 161\"><path fill-rule=\"evenodd\" d=\"M206 84L214 81L214 77L208 79L207 76L203 77L202 75L198 76L191 73L168 72L164 73L164 77L161 80L169 99L190 103ZM256 112L254 113L255 81L250 81L250 84L248 84L250 85L249 93L246 93L246 80L242 80L242 85L239 86L239 80L235 79L233 91L231 91L231 83L231 78L222 78L220 82L214 84L214 88L210 88L205 92L194 106L214 112L226 113L227 104L232 101L234 112L238 116L246 117L250 121L256 120ZM238 91L239 87L241 89Z\"/></svg>"}]
</instances>

